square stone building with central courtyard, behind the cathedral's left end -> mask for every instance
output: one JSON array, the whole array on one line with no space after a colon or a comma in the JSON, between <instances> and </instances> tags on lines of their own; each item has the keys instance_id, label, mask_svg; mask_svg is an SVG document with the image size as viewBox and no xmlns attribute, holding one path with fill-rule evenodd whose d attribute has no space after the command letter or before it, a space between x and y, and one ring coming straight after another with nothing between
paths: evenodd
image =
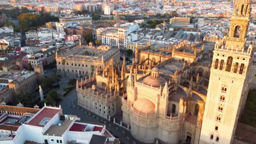
<instances>
[{"instance_id":1,"label":"square stone building with central courtyard, behind the cathedral's left end","mask_svg":"<svg viewBox=\"0 0 256 144\"><path fill-rule=\"evenodd\" d=\"M61 73L65 71L65 73L92 76L96 67L104 68L111 59L119 62L119 57L119 49L113 49L108 45L95 47L90 43L89 46L80 46L60 56L56 55L57 70Z\"/></svg>"}]
</instances>

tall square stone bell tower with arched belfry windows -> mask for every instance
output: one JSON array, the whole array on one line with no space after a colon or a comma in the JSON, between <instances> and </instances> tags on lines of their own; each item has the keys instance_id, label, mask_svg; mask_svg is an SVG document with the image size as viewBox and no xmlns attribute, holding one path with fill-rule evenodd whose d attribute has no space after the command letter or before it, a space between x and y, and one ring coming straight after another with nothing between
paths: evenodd
<instances>
[{"instance_id":1,"label":"tall square stone bell tower with arched belfry windows","mask_svg":"<svg viewBox=\"0 0 256 144\"><path fill-rule=\"evenodd\" d=\"M232 143L248 94L253 44L246 47L251 0L238 0L229 35L214 47L200 143Z\"/></svg>"}]
</instances>

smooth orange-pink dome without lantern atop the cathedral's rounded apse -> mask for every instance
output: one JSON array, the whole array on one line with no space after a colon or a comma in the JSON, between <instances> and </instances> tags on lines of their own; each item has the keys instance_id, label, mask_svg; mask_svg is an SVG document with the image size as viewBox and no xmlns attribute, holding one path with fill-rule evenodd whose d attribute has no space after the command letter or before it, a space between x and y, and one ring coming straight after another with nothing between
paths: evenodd
<instances>
[{"instance_id":1,"label":"smooth orange-pink dome without lantern atop the cathedral's rounded apse","mask_svg":"<svg viewBox=\"0 0 256 144\"><path fill-rule=\"evenodd\" d=\"M137 99L136 101L134 101L133 108L141 113L155 112L155 104L145 98Z\"/></svg>"}]
</instances>

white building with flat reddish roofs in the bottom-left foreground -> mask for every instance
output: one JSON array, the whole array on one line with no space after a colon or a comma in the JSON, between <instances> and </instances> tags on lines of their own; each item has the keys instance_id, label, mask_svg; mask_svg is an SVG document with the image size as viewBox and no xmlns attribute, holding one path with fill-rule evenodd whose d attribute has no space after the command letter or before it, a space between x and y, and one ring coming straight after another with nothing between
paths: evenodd
<instances>
[{"instance_id":1,"label":"white building with flat reddish roofs in the bottom-left foreground","mask_svg":"<svg viewBox=\"0 0 256 144\"><path fill-rule=\"evenodd\" d=\"M100 144L115 140L104 124L83 123L77 116L63 115L60 107L32 109L0 105L0 110L1 144L23 144L25 141L89 144L99 139Z\"/></svg>"}]
</instances>

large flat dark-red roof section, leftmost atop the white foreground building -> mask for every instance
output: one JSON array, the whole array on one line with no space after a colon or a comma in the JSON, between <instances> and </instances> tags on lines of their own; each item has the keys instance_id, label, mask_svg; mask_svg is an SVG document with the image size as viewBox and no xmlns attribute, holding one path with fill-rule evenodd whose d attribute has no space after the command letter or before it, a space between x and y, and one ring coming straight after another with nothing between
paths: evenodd
<instances>
[{"instance_id":1,"label":"large flat dark-red roof section, leftmost atop the white foreground building","mask_svg":"<svg viewBox=\"0 0 256 144\"><path fill-rule=\"evenodd\" d=\"M36 117L34 117L27 124L34 125L34 126L37 126L37 127L44 127L44 125L39 125L39 123L44 118L53 118L59 111L60 111L60 109L50 109L50 108L44 107L44 109L42 111L40 111L38 113L38 115Z\"/></svg>"}]
</instances>

